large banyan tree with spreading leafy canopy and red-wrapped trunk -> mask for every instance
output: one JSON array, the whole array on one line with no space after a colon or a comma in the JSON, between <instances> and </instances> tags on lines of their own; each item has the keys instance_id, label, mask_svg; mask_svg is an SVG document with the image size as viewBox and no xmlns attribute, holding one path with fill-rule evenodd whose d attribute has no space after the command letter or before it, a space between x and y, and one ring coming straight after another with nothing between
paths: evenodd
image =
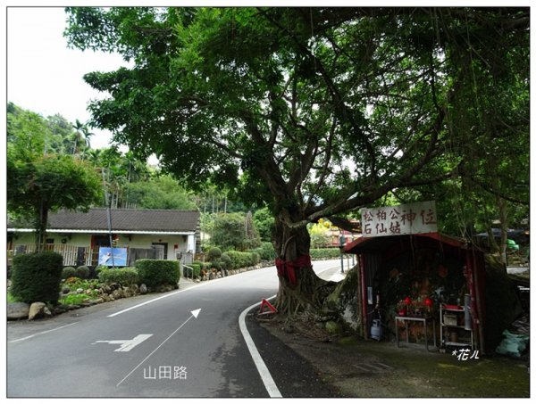
<instances>
[{"instance_id":1,"label":"large banyan tree with spreading leafy canopy and red-wrapped trunk","mask_svg":"<svg viewBox=\"0 0 536 404\"><path fill-rule=\"evenodd\" d=\"M85 76L108 93L94 126L190 186L272 211L281 311L319 308L329 289L308 223L467 172L466 144L528 119L511 91L528 94L528 8L67 12L71 46L129 62Z\"/></svg>"}]
</instances>

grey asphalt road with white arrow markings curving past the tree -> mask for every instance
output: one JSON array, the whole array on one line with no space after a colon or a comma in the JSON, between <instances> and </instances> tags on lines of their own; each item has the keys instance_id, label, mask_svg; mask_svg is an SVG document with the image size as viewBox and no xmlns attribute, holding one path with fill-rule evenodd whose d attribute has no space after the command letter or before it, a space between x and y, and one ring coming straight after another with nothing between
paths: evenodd
<instances>
[{"instance_id":1,"label":"grey asphalt road with white arrow markings curving past the tree","mask_svg":"<svg viewBox=\"0 0 536 404\"><path fill-rule=\"evenodd\" d=\"M314 269L339 279L337 260L315 262ZM9 323L7 397L269 397L239 316L277 288L275 268L263 268L43 321ZM281 362L299 358L258 331L251 335L270 357L281 395L303 397L306 382L281 381ZM299 380L314 378L305 368L300 372Z\"/></svg>"}]
</instances>

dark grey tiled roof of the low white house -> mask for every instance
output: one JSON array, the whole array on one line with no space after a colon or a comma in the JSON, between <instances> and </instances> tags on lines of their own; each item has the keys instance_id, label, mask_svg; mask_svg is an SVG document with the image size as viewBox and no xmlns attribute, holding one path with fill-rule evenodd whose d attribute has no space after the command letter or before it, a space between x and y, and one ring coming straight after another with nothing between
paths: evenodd
<instances>
[{"instance_id":1,"label":"dark grey tiled roof of the low white house","mask_svg":"<svg viewBox=\"0 0 536 404\"><path fill-rule=\"evenodd\" d=\"M199 212L197 210L137 210L112 209L113 232L195 232ZM9 226L8 227L12 227ZM48 229L107 230L108 218L105 208L88 212L60 210L50 213Z\"/></svg>"}]
</instances>

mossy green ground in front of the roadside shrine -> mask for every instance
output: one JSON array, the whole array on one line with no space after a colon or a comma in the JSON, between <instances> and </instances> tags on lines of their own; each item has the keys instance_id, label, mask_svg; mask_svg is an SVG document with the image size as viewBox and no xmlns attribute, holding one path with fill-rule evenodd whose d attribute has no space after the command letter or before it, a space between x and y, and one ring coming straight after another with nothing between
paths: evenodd
<instances>
[{"instance_id":1,"label":"mossy green ground in front of the roadside shrine","mask_svg":"<svg viewBox=\"0 0 536 404\"><path fill-rule=\"evenodd\" d=\"M342 338L348 356L375 358L396 370L381 376L386 397L528 398L530 375L526 361L496 355L460 361L451 353L427 352L423 347L397 348L392 342L363 342ZM378 381L379 381L378 380ZM348 383L362 383L349 378ZM370 382L370 381L369 381ZM377 392L360 392L374 397Z\"/></svg>"}]
</instances>

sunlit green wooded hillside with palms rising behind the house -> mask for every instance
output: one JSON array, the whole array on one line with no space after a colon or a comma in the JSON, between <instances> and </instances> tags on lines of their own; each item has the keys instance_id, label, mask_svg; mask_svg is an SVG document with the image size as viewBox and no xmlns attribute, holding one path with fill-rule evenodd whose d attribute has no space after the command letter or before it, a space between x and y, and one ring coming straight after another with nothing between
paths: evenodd
<instances>
[{"instance_id":1,"label":"sunlit green wooded hillside with palms rising behind the house","mask_svg":"<svg viewBox=\"0 0 536 404\"><path fill-rule=\"evenodd\" d=\"M246 211L243 205L228 201L214 186L206 185L202 194L188 192L171 175L147 166L146 161L131 152L122 152L118 144L93 149L89 143L91 136L88 124L80 120L71 123L59 113L45 118L14 103L7 104L10 159L35 162L46 154L55 154L86 161L99 175L104 171L101 181L110 195L112 208L191 210L198 205L206 210L212 204L214 211L215 202L216 210ZM104 199L94 202L96 206L105 203Z\"/></svg>"}]
</instances>

